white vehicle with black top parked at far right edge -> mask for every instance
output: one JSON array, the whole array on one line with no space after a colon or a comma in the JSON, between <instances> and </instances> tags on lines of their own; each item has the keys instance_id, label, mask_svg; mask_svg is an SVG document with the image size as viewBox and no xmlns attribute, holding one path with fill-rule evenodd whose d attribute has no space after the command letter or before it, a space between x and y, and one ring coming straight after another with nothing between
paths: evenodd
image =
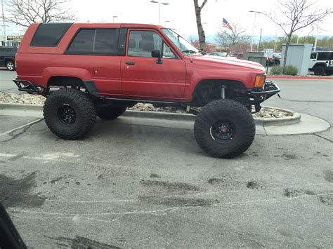
<instances>
[{"instance_id":1,"label":"white vehicle with black top parked at far right edge","mask_svg":"<svg viewBox=\"0 0 333 249\"><path fill-rule=\"evenodd\" d=\"M313 71L315 75L332 75L333 51L311 53L308 69Z\"/></svg>"}]
</instances>

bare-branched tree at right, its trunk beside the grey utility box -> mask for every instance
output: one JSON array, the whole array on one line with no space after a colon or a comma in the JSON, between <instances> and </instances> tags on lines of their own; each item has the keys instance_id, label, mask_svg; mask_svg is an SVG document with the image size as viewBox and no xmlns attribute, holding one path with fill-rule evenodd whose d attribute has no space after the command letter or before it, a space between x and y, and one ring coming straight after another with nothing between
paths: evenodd
<instances>
[{"instance_id":1,"label":"bare-branched tree at right, its trunk beside the grey utility box","mask_svg":"<svg viewBox=\"0 0 333 249\"><path fill-rule=\"evenodd\" d=\"M332 14L332 8L322 9L308 0L281 0L278 3L277 13L265 14L285 32L286 49L283 60L283 72L285 72L288 48L294 32L304 27L318 25L327 15Z\"/></svg>"}]
</instances>

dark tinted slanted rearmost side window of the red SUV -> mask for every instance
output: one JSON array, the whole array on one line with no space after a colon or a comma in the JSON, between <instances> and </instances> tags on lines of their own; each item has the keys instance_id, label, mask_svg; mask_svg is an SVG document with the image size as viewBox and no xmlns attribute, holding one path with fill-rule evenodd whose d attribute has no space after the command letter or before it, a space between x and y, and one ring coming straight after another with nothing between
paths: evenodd
<instances>
[{"instance_id":1,"label":"dark tinted slanted rearmost side window of the red SUV","mask_svg":"<svg viewBox=\"0 0 333 249\"><path fill-rule=\"evenodd\" d=\"M72 23L41 23L30 46L55 47L63 38Z\"/></svg>"}]
</instances>

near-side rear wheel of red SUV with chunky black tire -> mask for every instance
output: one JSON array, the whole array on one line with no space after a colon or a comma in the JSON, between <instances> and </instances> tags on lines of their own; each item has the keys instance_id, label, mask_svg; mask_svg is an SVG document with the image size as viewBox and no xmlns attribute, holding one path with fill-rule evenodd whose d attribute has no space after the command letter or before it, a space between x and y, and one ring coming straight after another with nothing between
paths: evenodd
<instances>
[{"instance_id":1,"label":"near-side rear wheel of red SUV with chunky black tire","mask_svg":"<svg viewBox=\"0 0 333 249\"><path fill-rule=\"evenodd\" d=\"M55 135L75 140L92 130L96 123L96 109L86 93L74 88L63 88L46 99L44 119Z\"/></svg>"}]
</instances>

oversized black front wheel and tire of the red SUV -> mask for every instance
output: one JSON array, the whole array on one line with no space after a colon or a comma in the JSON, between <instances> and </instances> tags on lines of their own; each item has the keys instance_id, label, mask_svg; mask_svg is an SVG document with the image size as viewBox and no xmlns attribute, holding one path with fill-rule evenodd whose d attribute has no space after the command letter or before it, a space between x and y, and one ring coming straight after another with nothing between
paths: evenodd
<instances>
[{"instance_id":1,"label":"oversized black front wheel and tire of the red SUV","mask_svg":"<svg viewBox=\"0 0 333 249\"><path fill-rule=\"evenodd\" d=\"M195 140L207 154L233 158L251 146L256 126L244 105L234 100L214 100L197 115L194 133Z\"/></svg>"}]
</instances>

